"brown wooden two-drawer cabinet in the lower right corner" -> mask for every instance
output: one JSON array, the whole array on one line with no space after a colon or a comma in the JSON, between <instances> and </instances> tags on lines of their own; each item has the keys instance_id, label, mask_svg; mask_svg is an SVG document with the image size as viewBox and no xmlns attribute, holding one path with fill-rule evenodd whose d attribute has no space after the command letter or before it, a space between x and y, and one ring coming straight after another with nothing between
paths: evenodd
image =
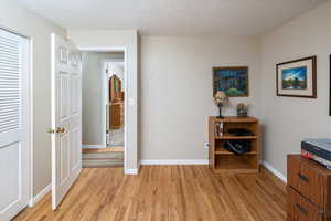
<instances>
[{"instance_id":1,"label":"brown wooden two-drawer cabinet in the lower right corner","mask_svg":"<svg viewBox=\"0 0 331 221\"><path fill-rule=\"evenodd\" d=\"M288 221L331 221L331 171L288 155L287 177Z\"/></svg>"}]
</instances>

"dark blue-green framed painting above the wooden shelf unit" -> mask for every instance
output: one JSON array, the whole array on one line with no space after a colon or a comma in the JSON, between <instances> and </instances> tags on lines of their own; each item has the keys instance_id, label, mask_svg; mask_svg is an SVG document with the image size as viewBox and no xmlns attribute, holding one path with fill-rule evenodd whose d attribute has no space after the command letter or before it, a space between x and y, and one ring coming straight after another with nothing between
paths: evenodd
<instances>
[{"instance_id":1,"label":"dark blue-green framed painting above the wooden shelf unit","mask_svg":"<svg viewBox=\"0 0 331 221\"><path fill-rule=\"evenodd\" d=\"M223 91L229 97L246 97L248 85L248 66L213 67L213 95Z\"/></svg>"}]
</instances>

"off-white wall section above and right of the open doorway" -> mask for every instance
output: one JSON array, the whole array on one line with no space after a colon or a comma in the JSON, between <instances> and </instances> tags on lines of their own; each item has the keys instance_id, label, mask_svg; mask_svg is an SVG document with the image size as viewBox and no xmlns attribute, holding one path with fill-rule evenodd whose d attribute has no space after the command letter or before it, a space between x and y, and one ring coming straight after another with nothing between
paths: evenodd
<instances>
[{"instance_id":1,"label":"off-white wall section above and right of the open doorway","mask_svg":"<svg viewBox=\"0 0 331 221\"><path fill-rule=\"evenodd\" d=\"M70 30L68 38L79 48L126 48L127 60L127 93L125 108L127 109L125 127L127 131L125 152L126 172L138 169L138 32L127 31L77 31Z\"/></svg>"}]
</instances>

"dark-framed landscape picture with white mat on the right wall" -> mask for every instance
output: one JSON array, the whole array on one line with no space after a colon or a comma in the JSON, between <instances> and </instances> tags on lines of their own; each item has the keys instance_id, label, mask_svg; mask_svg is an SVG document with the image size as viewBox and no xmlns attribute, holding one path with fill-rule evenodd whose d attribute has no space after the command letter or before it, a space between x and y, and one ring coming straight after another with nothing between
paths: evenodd
<instances>
[{"instance_id":1,"label":"dark-framed landscape picture with white mat on the right wall","mask_svg":"<svg viewBox=\"0 0 331 221\"><path fill-rule=\"evenodd\" d=\"M316 56L276 65L277 96L317 97Z\"/></svg>"}]
</instances>

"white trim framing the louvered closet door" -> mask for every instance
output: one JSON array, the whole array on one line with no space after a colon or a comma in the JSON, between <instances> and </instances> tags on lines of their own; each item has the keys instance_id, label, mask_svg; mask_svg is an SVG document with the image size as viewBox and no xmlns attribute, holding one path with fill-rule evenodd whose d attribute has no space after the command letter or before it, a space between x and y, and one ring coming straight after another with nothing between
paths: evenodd
<instances>
[{"instance_id":1,"label":"white trim framing the louvered closet door","mask_svg":"<svg viewBox=\"0 0 331 221\"><path fill-rule=\"evenodd\" d=\"M25 115L26 124L30 125L26 127L26 146L28 146L28 167L26 167L26 172L28 172L28 196L29 196L29 201L28 201L28 207L33 207L34 206L34 196L33 196L33 38L22 34L15 30L12 30L8 27L0 25L0 30L10 32L12 34L17 34L21 38L26 39L28 41L28 62L25 65L26 66L26 85L28 85L28 101L26 101L26 106L24 107L28 113Z\"/></svg>"}]
</instances>

